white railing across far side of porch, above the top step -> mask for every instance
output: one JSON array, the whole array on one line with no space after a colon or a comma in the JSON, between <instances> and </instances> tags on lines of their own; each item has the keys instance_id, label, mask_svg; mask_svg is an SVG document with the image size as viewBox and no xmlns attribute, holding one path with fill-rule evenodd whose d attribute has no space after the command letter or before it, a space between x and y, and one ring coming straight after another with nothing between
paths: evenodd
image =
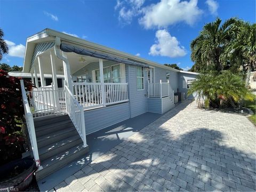
<instances>
[{"instance_id":1,"label":"white railing across far side of porch, above the top step","mask_svg":"<svg viewBox=\"0 0 256 192\"><path fill-rule=\"evenodd\" d=\"M30 94L30 107L34 117L65 113L64 89L54 89L54 85L37 87Z\"/></svg>"}]
</instances>

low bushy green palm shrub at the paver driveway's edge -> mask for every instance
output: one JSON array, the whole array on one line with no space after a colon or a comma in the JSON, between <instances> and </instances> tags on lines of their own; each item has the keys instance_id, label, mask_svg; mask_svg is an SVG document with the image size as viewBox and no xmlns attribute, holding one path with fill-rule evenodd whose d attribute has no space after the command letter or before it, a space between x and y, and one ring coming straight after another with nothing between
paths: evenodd
<instances>
[{"instance_id":1,"label":"low bushy green palm shrub at the paver driveway's edge","mask_svg":"<svg viewBox=\"0 0 256 192\"><path fill-rule=\"evenodd\" d=\"M188 95L196 92L198 107L206 108L238 107L244 99L253 100L253 95L245 87L241 75L223 70L198 75L188 90Z\"/></svg>"}]
</instances>

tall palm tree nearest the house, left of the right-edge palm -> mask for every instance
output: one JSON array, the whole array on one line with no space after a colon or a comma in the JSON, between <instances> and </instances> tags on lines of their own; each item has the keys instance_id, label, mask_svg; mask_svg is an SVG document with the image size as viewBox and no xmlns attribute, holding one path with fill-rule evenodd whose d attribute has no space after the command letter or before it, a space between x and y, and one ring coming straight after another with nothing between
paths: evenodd
<instances>
[{"instance_id":1,"label":"tall palm tree nearest the house, left of the right-edge palm","mask_svg":"<svg viewBox=\"0 0 256 192\"><path fill-rule=\"evenodd\" d=\"M236 21L236 18L230 18L221 25L221 19L217 18L203 27L199 36L190 44L191 60L195 62L195 68L223 69L225 61L221 60L221 54L235 34L232 26Z\"/></svg>"}]
</instances>

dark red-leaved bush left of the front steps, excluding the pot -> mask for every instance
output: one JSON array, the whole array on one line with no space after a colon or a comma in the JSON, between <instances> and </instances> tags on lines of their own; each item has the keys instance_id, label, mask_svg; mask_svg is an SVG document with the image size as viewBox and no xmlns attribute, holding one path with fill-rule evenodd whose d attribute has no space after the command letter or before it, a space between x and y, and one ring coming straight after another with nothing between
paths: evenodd
<instances>
[{"instance_id":1,"label":"dark red-leaved bush left of the front steps, excluding the pot","mask_svg":"<svg viewBox=\"0 0 256 192\"><path fill-rule=\"evenodd\" d=\"M0 69L0 165L20 158L25 151L21 132L24 108L20 79ZM31 82L24 83L27 91L30 91Z\"/></svg>"}]
</instances>

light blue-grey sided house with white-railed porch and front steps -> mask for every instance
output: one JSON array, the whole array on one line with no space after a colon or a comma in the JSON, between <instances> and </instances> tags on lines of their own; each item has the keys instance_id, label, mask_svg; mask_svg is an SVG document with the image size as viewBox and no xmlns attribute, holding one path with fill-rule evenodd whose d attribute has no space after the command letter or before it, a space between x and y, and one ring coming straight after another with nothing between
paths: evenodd
<instances>
[{"instance_id":1,"label":"light blue-grey sided house with white-railed porch and front steps","mask_svg":"<svg viewBox=\"0 0 256 192\"><path fill-rule=\"evenodd\" d=\"M40 86L38 72L40 79L52 74L53 83ZM27 99L21 81L38 180L87 153L86 135L143 113L165 113L175 93L193 99L187 89L197 76L52 29L27 38L23 73L38 85Z\"/></svg>"}]
</instances>

